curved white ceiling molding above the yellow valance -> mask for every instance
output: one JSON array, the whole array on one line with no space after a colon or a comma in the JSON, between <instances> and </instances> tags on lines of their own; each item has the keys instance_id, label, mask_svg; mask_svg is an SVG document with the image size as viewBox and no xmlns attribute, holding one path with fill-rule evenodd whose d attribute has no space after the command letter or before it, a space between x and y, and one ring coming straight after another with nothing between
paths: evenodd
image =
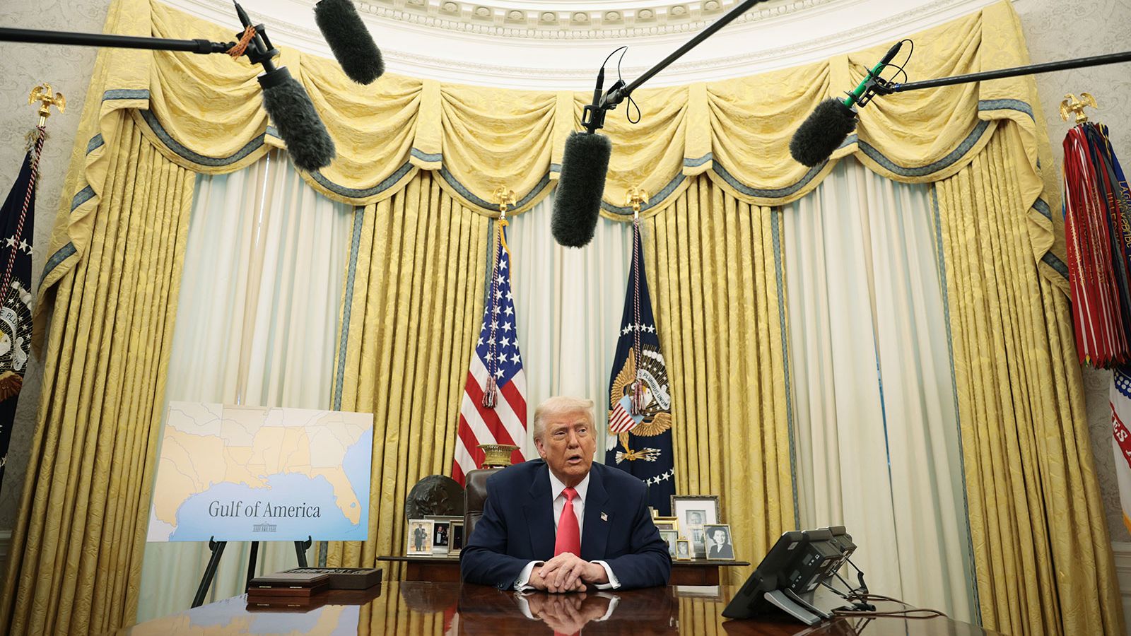
<instances>
[{"instance_id":1,"label":"curved white ceiling molding above the yellow valance","mask_svg":"<svg viewBox=\"0 0 1131 636\"><path fill-rule=\"evenodd\" d=\"M227 0L162 1L209 22L228 25L233 33L238 31L238 23ZM592 89L601 60L620 44L631 44L621 69L623 77L631 79L685 42L688 33L698 28L692 28L693 25L699 24L684 23L687 31L657 31L648 36L631 36L631 42L624 41L630 36L618 36L612 41L598 36L559 40L541 36L499 37L502 31L510 27L480 25L468 20L458 23L464 27L447 29L426 20L397 22L372 12L371 8L375 7L377 1L365 0L366 3L360 5L364 9L362 17L381 46L387 68L391 72L511 88ZM380 1L406 3L413 0ZM439 3L448 0L421 1ZM494 1L497 5L516 3L516 0ZM878 0L797 0L769 5L770 8L780 8L782 12L728 25L667 67L648 86L711 81L810 63L891 42L975 11L991 1L993 0L905 0L898 12L888 9L890 2ZM654 0L620 0L616 5L607 5L638 10L646 2ZM276 44L331 57L321 33L313 24L313 0L243 0L242 3L252 19L268 25ZM571 0L523 2L527 10L570 3L585 5ZM590 1L585 6L594 3ZM786 10L786 5L789 10ZM806 11L797 8L802 5L814 9ZM798 37L797 34L806 36ZM498 63L497 60L506 62ZM515 65L515 60L521 60L521 65Z\"/></svg>"}]
</instances>

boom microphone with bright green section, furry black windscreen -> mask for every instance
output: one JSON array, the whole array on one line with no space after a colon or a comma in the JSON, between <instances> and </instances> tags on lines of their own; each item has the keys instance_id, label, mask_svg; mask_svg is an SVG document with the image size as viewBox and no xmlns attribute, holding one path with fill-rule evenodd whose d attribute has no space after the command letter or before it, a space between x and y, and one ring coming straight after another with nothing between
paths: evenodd
<instances>
[{"instance_id":1,"label":"boom microphone with bright green section, furry black windscreen","mask_svg":"<svg viewBox=\"0 0 1131 636\"><path fill-rule=\"evenodd\" d=\"M865 94L877 88L880 71L891 62L903 44L903 41L896 42L888 49L880 63L869 71L867 77L847 97L830 97L813 109L789 140L789 154L797 163L812 167L827 161L840 147L848 134L856 129L856 111L852 106L863 106L869 102L870 97Z\"/></svg>"}]
</instances>

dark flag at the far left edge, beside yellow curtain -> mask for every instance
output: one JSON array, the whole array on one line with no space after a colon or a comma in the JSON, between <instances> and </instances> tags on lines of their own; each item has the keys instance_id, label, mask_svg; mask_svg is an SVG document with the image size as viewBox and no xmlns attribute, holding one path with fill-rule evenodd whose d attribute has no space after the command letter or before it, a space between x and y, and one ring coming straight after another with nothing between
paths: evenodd
<instances>
[{"instance_id":1,"label":"dark flag at the far left edge, beside yellow curtain","mask_svg":"<svg viewBox=\"0 0 1131 636\"><path fill-rule=\"evenodd\" d=\"M32 345L32 235L35 220L35 178L43 152L43 128L0 207L0 483L3 483L16 419L16 401Z\"/></svg>"}]
</instances>

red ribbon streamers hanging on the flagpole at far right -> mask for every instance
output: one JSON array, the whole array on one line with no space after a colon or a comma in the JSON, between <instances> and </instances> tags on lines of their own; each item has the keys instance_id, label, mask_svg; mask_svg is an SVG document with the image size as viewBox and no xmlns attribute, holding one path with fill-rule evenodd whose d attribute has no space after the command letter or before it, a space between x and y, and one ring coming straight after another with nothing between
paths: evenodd
<instances>
[{"instance_id":1,"label":"red ribbon streamers hanging on the flagpole at far right","mask_svg":"<svg viewBox=\"0 0 1131 636\"><path fill-rule=\"evenodd\" d=\"M1081 363L1131 362L1131 197L1107 127L1064 137L1064 235Z\"/></svg>"}]
</instances>

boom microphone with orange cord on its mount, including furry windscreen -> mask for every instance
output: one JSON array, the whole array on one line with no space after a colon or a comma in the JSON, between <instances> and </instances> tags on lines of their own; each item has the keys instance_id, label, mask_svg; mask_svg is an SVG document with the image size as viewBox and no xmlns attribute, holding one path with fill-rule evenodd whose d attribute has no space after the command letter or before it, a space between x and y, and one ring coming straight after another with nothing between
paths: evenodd
<instances>
[{"instance_id":1,"label":"boom microphone with orange cord on its mount, including furry windscreen","mask_svg":"<svg viewBox=\"0 0 1131 636\"><path fill-rule=\"evenodd\" d=\"M251 19L239 2L235 2L235 12L244 28L251 26ZM271 58L277 54L278 50L271 46L262 25L254 27L247 55L252 63L262 65L266 71L259 76L259 85L264 88L264 110L275 122L279 137L286 143L287 154L297 167L307 172L326 167L336 154L334 140L302 85L291 77L286 68L275 68Z\"/></svg>"}]
</instances>

